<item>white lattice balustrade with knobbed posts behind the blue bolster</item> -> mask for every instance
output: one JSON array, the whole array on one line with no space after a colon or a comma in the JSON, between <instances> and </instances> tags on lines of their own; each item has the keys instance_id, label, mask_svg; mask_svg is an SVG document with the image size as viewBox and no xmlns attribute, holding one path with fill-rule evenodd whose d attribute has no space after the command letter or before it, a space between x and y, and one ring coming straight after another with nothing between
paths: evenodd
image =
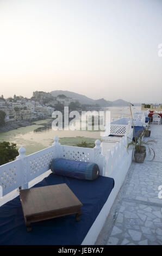
<instances>
[{"instance_id":1,"label":"white lattice balustrade with knobbed posts behind the blue bolster","mask_svg":"<svg viewBox=\"0 0 162 256\"><path fill-rule=\"evenodd\" d=\"M26 156L26 149L21 147L15 161L0 166L0 197L21 187L28 188L29 181L37 178L50 169L54 158L65 158L76 161L97 163L103 175L104 156L101 142L97 139L95 148L81 148L61 145L59 138L54 137L51 147Z\"/></svg>"}]
</instances>

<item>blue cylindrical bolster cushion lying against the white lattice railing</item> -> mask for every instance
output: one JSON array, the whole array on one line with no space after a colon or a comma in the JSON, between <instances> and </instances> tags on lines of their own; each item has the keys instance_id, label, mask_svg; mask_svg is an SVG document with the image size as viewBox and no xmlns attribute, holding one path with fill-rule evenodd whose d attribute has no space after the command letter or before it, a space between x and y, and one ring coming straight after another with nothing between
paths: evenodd
<instances>
[{"instance_id":1,"label":"blue cylindrical bolster cushion lying against the white lattice railing","mask_svg":"<svg viewBox=\"0 0 162 256\"><path fill-rule=\"evenodd\" d=\"M53 159L51 162L53 173L81 180L95 180L99 176L99 167L96 163L66 159Z\"/></svg>"}]
</instances>

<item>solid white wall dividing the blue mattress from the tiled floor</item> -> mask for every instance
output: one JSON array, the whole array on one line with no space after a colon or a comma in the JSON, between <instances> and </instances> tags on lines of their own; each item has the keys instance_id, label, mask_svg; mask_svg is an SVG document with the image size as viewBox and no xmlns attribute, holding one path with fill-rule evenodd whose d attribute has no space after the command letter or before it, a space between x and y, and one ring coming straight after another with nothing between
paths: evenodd
<instances>
[{"instance_id":1,"label":"solid white wall dividing the blue mattress from the tiled floor","mask_svg":"<svg viewBox=\"0 0 162 256\"><path fill-rule=\"evenodd\" d=\"M108 197L107 202L104 204L101 212L97 216L94 224L90 228L88 234L82 242L82 245L94 245L100 231L103 228L104 222L109 215L111 206L120 188L126 178L133 157L133 147L129 147L128 143L133 138L133 129L128 132L123 138L120 138L120 142L116 142L111 149L108 149L104 159L104 176L113 178L115 186ZM116 137L119 138L119 137ZM106 142L102 142L106 143Z\"/></svg>"}]
</instances>

